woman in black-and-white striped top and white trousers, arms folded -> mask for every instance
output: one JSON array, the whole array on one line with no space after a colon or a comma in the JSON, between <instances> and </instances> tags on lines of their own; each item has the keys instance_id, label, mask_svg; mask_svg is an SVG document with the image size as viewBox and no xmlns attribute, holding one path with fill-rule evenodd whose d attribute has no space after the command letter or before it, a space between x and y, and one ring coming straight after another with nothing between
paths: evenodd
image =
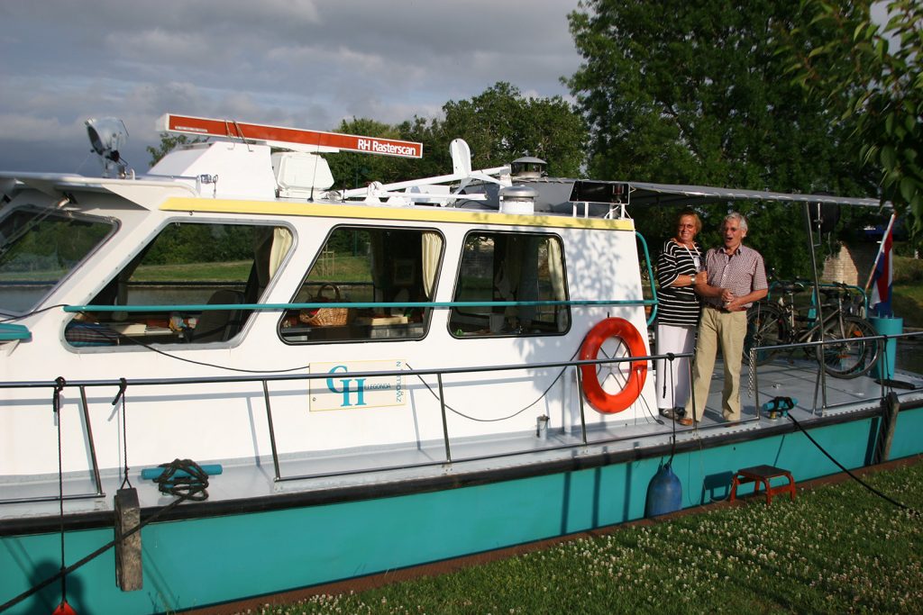
<instances>
[{"instance_id":1,"label":"woman in black-and-white striped top and white trousers, arms folded","mask_svg":"<svg viewBox=\"0 0 923 615\"><path fill-rule=\"evenodd\" d=\"M657 354L689 353L701 307L695 294L696 277L702 268L701 249L695 237L701 231L699 215L689 209L677 218L677 235L664 243L657 259ZM704 276L704 272L702 272ZM683 425L689 399L689 359L660 359L656 364L657 408L667 419Z\"/></svg>"}]
</instances>

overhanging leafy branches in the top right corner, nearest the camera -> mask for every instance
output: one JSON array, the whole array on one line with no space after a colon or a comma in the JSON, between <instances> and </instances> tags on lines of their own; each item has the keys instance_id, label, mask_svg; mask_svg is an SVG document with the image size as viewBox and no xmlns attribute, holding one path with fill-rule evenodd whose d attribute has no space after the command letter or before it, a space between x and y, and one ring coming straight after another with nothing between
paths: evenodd
<instances>
[{"instance_id":1,"label":"overhanging leafy branches in the top right corner, nearest the camera","mask_svg":"<svg viewBox=\"0 0 923 615\"><path fill-rule=\"evenodd\" d=\"M923 231L923 5L893 0L875 24L869 2L801 5L806 25L786 37L782 54L809 100L827 101L853 126L852 152L877 171L881 200Z\"/></svg>"}]
</instances>

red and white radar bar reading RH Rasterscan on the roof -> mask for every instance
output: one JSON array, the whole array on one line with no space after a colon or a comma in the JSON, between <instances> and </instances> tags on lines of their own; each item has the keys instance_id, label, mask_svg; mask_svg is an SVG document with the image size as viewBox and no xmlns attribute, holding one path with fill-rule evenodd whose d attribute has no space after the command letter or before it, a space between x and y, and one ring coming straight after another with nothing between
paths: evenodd
<instances>
[{"instance_id":1,"label":"red and white radar bar reading RH Rasterscan on the roof","mask_svg":"<svg viewBox=\"0 0 923 615\"><path fill-rule=\"evenodd\" d=\"M423 158L423 144L414 141L325 133L268 124L246 124L236 120L217 120L174 113L164 113L158 118L157 130L163 133L240 139L295 151L335 152L345 149L362 154Z\"/></svg>"}]
</instances>

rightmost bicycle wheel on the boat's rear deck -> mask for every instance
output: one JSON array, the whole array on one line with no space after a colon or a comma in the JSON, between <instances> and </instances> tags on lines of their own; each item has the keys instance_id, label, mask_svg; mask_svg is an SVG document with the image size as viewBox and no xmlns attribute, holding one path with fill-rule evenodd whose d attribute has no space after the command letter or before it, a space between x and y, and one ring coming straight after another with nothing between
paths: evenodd
<instances>
[{"instance_id":1,"label":"rightmost bicycle wheel on the boat's rear deck","mask_svg":"<svg viewBox=\"0 0 923 615\"><path fill-rule=\"evenodd\" d=\"M878 340L858 338L877 335L864 318L833 318L823 327L824 346L818 347L818 361L822 361L824 371L834 378L857 378L869 373L878 361Z\"/></svg>"}]
</instances>

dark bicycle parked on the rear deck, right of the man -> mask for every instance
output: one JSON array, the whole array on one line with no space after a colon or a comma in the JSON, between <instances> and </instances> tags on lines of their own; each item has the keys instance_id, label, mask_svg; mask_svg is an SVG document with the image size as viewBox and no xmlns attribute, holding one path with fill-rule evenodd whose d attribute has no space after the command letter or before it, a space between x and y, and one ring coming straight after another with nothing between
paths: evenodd
<instances>
[{"instance_id":1,"label":"dark bicycle parked on the rear deck, right of the man","mask_svg":"<svg viewBox=\"0 0 923 615\"><path fill-rule=\"evenodd\" d=\"M865 298L857 301L857 294L845 284L821 286L825 301L821 303L823 322L818 319L817 298L811 293L806 307L797 307L795 296L808 290L809 284L801 280L773 282L771 289L778 289L780 297L776 302L764 300L755 303L747 313L747 337L744 340L744 358L749 361L750 349L756 351L754 362L764 365L773 361L781 352L794 349L776 349L785 346L821 339L823 346L804 347L809 358L819 361L826 373L836 378L857 378L878 361L878 340L861 339L876 337L874 327L863 317Z\"/></svg>"}]
</instances>

